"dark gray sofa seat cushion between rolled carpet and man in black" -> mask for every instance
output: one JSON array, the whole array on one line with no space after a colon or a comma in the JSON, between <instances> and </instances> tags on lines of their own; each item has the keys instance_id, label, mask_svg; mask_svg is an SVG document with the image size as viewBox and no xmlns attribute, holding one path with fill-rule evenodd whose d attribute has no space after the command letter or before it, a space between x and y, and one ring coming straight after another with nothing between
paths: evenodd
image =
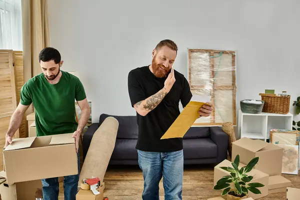
<instances>
[{"instance_id":1,"label":"dark gray sofa seat cushion between rolled carpet and man in black","mask_svg":"<svg viewBox=\"0 0 300 200\"><path fill-rule=\"evenodd\" d=\"M117 139L110 159L137 159L136 139Z\"/></svg>"}]
</instances>

